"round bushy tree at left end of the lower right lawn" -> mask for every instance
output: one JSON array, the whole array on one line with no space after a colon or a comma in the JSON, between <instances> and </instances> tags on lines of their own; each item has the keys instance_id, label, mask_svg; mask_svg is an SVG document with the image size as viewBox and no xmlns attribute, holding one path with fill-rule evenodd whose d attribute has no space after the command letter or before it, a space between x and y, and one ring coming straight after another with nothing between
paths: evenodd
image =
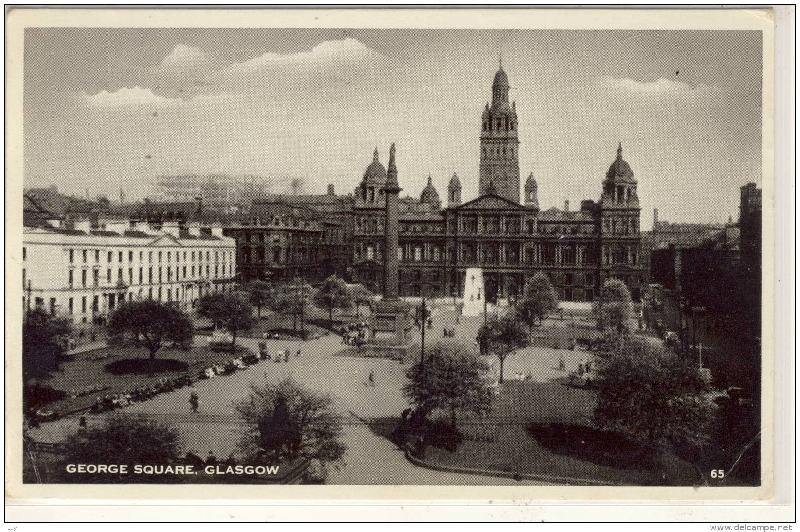
<instances>
[{"instance_id":1,"label":"round bushy tree at left end of the lower right lawn","mask_svg":"<svg viewBox=\"0 0 800 532\"><path fill-rule=\"evenodd\" d=\"M491 412L493 391L488 371L489 365L465 344L437 342L427 350L425 366L418 361L406 370L409 382L402 393L424 415L442 410L455 428L458 413L480 416Z\"/></svg>"}]
</instances>

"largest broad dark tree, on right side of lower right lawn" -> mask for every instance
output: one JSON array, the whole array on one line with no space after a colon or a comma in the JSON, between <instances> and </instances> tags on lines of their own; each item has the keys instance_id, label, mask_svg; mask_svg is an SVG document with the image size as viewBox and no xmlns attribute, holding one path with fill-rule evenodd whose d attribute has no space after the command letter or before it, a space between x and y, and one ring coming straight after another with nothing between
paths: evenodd
<instances>
[{"instance_id":1,"label":"largest broad dark tree, on right side of lower right lawn","mask_svg":"<svg viewBox=\"0 0 800 532\"><path fill-rule=\"evenodd\" d=\"M705 439L709 386L694 362L630 334L606 334L593 350L599 427L650 445Z\"/></svg>"}]
</instances>

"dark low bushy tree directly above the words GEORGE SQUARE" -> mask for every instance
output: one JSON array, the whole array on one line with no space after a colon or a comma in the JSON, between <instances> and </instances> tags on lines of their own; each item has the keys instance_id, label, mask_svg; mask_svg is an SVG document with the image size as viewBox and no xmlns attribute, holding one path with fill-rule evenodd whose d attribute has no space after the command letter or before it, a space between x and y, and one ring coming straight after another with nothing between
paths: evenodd
<instances>
[{"instance_id":1,"label":"dark low bushy tree directly above the words GEORGE SQUARE","mask_svg":"<svg viewBox=\"0 0 800 532\"><path fill-rule=\"evenodd\" d=\"M81 481L90 477L107 482L130 482L133 466L158 466L174 463L179 458L178 430L173 426L141 418L107 418L100 426L66 438L62 442L64 464L125 464L128 474L80 474ZM63 468L61 468L63 471Z\"/></svg>"}]
</instances>

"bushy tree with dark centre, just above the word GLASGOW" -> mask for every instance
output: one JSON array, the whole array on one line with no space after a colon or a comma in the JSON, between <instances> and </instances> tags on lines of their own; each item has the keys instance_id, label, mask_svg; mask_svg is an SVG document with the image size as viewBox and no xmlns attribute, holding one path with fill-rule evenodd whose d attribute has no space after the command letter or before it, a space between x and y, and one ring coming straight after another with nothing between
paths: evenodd
<instances>
[{"instance_id":1,"label":"bushy tree with dark centre, just above the word GLASGOW","mask_svg":"<svg viewBox=\"0 0 800 532\"><path fill-rule=\"evenodd\" d=\"M342 420L334 399L291 376L250 384L250 397L234 405L242 419L239 447L255 462L296 458L337 464L345 454Z\"/></svg>"}]
</instances>

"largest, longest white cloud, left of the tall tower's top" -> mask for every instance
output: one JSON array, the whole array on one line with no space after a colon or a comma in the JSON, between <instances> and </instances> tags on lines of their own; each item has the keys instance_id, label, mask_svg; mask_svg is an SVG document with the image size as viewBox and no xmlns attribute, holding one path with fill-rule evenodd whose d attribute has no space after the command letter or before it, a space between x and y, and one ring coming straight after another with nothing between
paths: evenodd
<instances>
[{"instance_id":1,"label":"largest, longest white cloud, left of the tall tower's top","mask_svg":"<svg viewBox=\"0 0 800 532\"><path fill-rule=\"evenodd\" d=\"M294 77L309 71L347 70L356 66L368 66L384 57L377 51L354 38L341 41L323 41L310 51L296 54L267 52L245 62L234 63L210 74L211 81L246 82L248 79ZM300 72L298 72L300 71ZM294 74L294 75L293 75Z\"/></svg>"}]
</instances>

